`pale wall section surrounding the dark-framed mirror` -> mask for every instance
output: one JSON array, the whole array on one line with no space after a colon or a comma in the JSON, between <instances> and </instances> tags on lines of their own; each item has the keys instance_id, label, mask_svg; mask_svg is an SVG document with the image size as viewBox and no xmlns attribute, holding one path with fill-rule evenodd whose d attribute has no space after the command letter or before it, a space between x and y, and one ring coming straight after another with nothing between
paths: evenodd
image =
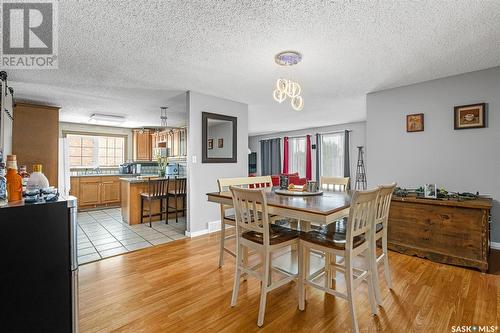
<instances>
[{"instance_id":1,"label":"pale wall section surrounding the dark-framed mirror","mask_svg":"<svg viewBox=\"0 0 500 333\"><path fill-rule=\"evenodd\" d=\"M244 177L248 169L248 105L223 98L188 92L188 232L208 229L208 223L220 220L219 206L207 201L207 193L218 190L217 179ZM211 112L238 118L237 163L201 163L201 113ZM217 143L214 142L214 145ZM196 162L193 159L196 159Z\"/></svg>"}]
</instances>

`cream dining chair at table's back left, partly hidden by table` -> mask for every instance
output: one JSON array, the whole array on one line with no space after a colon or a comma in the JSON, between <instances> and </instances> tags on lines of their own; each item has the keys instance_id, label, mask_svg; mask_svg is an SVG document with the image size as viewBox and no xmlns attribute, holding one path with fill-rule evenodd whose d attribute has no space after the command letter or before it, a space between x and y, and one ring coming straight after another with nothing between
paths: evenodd
<instances>
[{"instance_id":1,"label":"cream dining chair at table's back left, partly hidden by table","mask_svg":"<svg viewBox=\"0 0 500 333\"><path fill-rule=\"evenodd\" d=\"M219 184L219 192L229 191L231 186L241 187L241 188L266 188L272 187L273 182L271 176L260 176L260 177L237 177L237 178L220 178L217 180ZM235 238L235 235L226 236L226 226L236 226L236 217L230 211L233 206L230 205L220 205L220 217L221 217L221 228L220 228L220 251L219 251L219 267L224 265L224 252L229 253L229 255L236 257L236 253L225 247L226 240Z\"/></svg>"}]
</instances>

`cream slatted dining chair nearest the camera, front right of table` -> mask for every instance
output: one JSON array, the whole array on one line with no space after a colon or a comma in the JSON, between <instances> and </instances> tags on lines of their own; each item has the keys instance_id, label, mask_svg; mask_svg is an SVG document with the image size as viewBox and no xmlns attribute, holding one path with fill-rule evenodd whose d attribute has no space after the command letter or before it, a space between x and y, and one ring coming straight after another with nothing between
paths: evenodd
<instances>
[{"instance_id":1,"label":"cream slatted dining chair nearest the camera, front right of table","mask_svg":"<svg viewBox=\"0 0 500 333\"><path fill-rule=\"evenodd\" d=\"M305 285L310 285L324 292L344 298L349 303L352 327L355 332L359 332L354 304L354 290L362 281L368 283L368 297L371 311L377 314L377 303L373 279L371 278L371 251L370 240L372 237L372 221L375 214L379 189L354 192L351 199L351 208L344 226L339 223L331 223L320 230L313 230L300 235L299 243L299 310L305 308ZM343 230L342 230L343 229ZM325 259L325 269L323 274L310 273L310 251L316 250L325 253L326 258L336 258L341 256L344 263L339 264L335 260ZM366 268L354 267L354 258L363 255ZM330 276L329 272L333 272ZM336 272L343 273L346 284L346 292L336 290L330 284L331 278L336 277ZM324 277L323 284L317 282L321 276Z\"/></svg>"}]
</instances>

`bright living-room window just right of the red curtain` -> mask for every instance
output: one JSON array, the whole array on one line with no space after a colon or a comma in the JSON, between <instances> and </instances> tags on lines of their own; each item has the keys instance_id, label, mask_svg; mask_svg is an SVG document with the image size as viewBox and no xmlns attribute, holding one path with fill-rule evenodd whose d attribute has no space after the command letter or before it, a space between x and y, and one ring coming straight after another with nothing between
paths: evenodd
<instances>
[{"instance_id":1,"label":"bright living-room window just right of the red curtain","mask_svg":"<svg viewBox=\"0 0 500 333\"><path fill-rule=\"evenodd\" d=\"M344 133L321 136L321 176L344 177Z\"/></svg>"}]
</instances>

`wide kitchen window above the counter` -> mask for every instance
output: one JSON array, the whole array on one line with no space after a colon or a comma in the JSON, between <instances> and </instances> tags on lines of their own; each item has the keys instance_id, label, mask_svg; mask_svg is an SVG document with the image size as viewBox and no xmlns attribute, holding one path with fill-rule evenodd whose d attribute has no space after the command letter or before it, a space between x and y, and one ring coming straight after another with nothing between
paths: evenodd
<instances>
[{"instance_id":1,"label":"wide kitchen window above the counter","mask_svg":"<svg viewBox=\"0 0 500 333\"><path fill-rule=\"evenodd\" d=\"M125 161L125 138L68 134L69 166L95 168L118 166Z\"/></svg>"}]
</instances>

